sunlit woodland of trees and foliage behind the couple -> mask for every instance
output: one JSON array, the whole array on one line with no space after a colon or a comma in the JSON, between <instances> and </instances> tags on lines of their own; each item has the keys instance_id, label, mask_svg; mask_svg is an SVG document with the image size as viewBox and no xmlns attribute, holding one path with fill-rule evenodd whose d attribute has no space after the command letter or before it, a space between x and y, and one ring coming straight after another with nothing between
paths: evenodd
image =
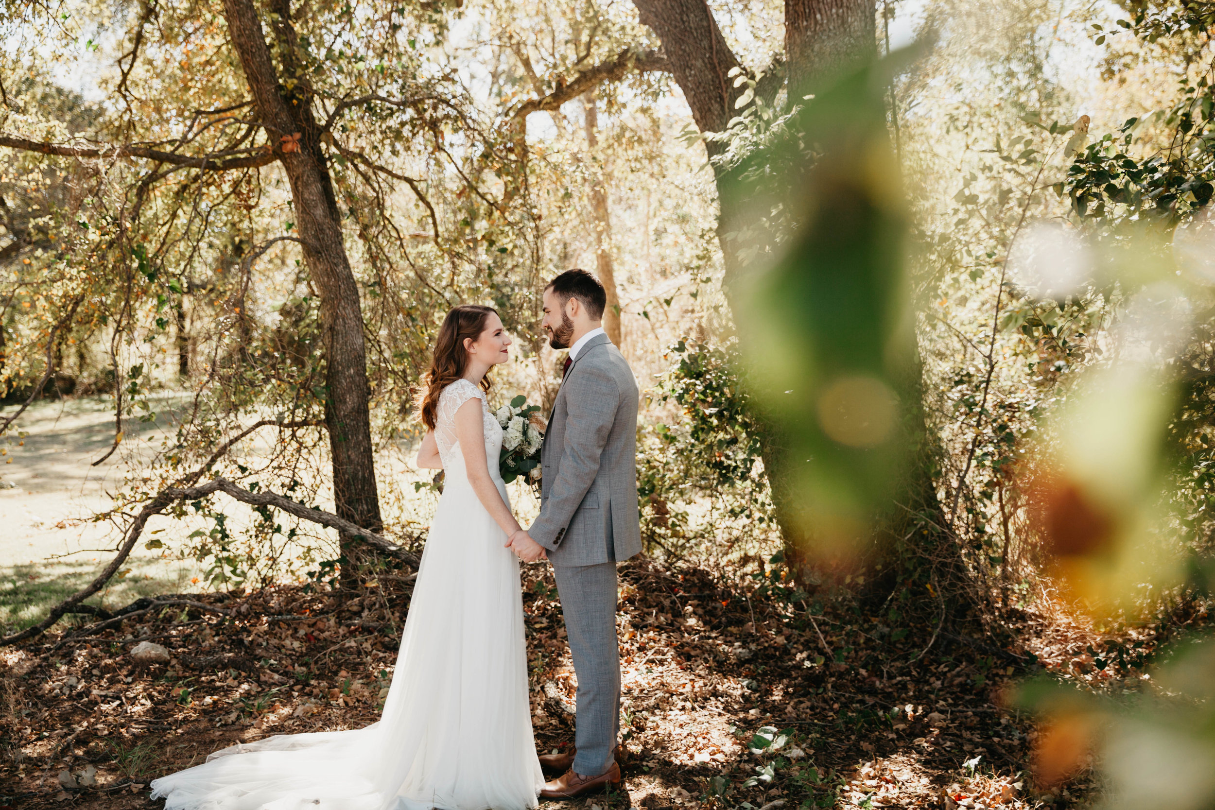
<instances>
[{"instance_id":1,"label":"sunlit woodland of trees and foliage behind the couple","mask_svg":"<svg viewBox=\"0 0 1215 810\"><path fill-rule=\"evenodd\" d=\"M96 463L129 469L119 556L9 641L137 543L214 588L411 568L437 485L385 459L443 313L496 306L496 395L547 406L539 293L572 266L642 380L654 559L874 594L929 646L1058 600L1205 616L1209 4L5 11L0 442L108 397ZM173 441L136 447L166 392ZM213 529L141 534L187 509ZM266 566L275 537L306 565Z\"/></svg>"}]
</instances>

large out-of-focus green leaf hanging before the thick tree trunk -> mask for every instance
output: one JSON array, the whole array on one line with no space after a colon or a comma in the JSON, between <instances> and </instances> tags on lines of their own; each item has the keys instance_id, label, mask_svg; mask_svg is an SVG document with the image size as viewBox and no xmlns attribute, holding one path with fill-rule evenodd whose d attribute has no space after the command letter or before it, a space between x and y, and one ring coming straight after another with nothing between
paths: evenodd
<instances>
[{"instance_id":1,"label":"large out-of-focus green leaf hanging before the thick tree trunk","mask_svg":"<svg viewBox=\"0 0 1215 810\"><path fill-rule=\"evenodd\" d=\"M883 89L893 62L842 79L736 168L762 209L735 312L776 446L789 519L815 556L860 551L898 509L919 408L905 220ZM920 423L922 424L922 421Z\"/></svg>"}]
</instances>

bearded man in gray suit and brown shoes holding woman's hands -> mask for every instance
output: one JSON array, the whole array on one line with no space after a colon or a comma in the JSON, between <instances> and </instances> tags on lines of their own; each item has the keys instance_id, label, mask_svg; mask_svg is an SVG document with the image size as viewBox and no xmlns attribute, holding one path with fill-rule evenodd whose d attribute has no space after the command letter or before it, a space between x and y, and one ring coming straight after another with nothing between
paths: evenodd
<instances>
[{"instance_id":1,"label":"bearded man in gray suit and brown shoes holding woman's hands","mask_svg":"<svg viewBox=\"0 0 1215 810\"><path fill-rule=\"evenodd\" d=\"M604 333L603 284L570 270L544 289L553 349L569 349L541 449L541 511L509 545L525 562L548 555L578 678L571 754L541 757L564 771L541 798L569 799L621 781L616 563L642 550L637 515L637 381Z\"/></svg>"}]
</instances>

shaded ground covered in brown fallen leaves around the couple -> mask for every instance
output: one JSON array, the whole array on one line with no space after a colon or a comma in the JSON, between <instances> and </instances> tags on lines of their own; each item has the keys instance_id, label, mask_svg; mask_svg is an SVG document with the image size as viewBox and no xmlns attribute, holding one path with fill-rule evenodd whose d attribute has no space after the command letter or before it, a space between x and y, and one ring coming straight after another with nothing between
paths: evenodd
<instances>
[{"instance_id":1,"label":"shaded ground covered in brown fallen leaves around the couple","mask_svg":"<svg viewBox=\"0 0 1215 810\"><path fill-rule=\"evenodd\" d=\"M552 573L525 572L538 747L572 741L576 679ZM298 585L170 606L96 635L0 650L0 806L143 808L156 776L275 733L378 719L408 605ZM813 621L756 583L649 560L621 566L623 806L1035 806L1016 676L973 645L891 641L846 600ZM931 628L923 633L928 638ZM140 641L168 663L139 667ZM563 803L548 803L558 808Z\"/></svg>"}]
</instances>

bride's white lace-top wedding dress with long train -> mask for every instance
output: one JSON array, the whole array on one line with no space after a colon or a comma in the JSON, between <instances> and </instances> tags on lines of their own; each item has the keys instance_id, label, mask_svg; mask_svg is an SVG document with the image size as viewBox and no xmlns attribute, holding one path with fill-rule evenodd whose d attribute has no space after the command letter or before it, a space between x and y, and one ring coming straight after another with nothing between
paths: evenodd
<instances>
[{"instance_id":1,"label":"bride's white lace-top wedding dress with long train","mask_svg":"<svg viewBox=\"0 0 1215 810\"><path fill-rule=\"evenodd\" d=\"M481 401L498 474L502 427L468 380L439 398L445 485L378 723L217 750L152 782L166 810L513 810L544 783L527 698L519 561L468 481L456 410ZM507 502L509 504L509 500Z\"/></svg>"}]
</instances>

